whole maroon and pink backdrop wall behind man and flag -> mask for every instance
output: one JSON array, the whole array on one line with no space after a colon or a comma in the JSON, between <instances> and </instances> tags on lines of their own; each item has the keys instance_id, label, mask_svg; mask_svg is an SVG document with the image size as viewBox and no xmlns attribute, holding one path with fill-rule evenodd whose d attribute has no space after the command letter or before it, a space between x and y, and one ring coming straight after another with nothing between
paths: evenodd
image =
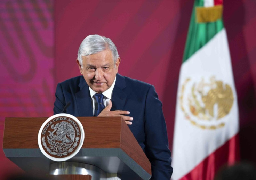
<instances>
[{"instance_id":1,"label":"whole maroon and pink backdrop wall behind man and flag","mask_svg":"<svg viewBox=\"0 0 256 180\"><path fill-rule=\"evenodd\" d=\"M56 84L80 75L75 62L89 34L112 39L119 73L153 84L172 147L179 68L191 0L1 0L0 172L19 172L2 151L4 117L52 115ZM241 159L256 162L256 2L224 0L240 113Z\"/></svg>"}]
</instances>

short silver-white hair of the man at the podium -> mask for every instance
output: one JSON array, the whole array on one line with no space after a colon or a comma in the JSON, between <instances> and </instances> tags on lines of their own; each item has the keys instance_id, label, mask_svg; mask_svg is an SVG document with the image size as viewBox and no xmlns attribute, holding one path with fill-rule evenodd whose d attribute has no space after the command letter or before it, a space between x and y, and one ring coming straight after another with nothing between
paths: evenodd
<instances>
[{"instance_id":1,"label":"short silver-white hair of the man at the podium","mask_svg":"<svg viewBox=\"0 0 256 180\"><path fill-rule=\"evenodd\" d=\"M119 57L119 54L117 52L117 47L115 47L115 44L111 41L111 39L106 38L104 36L97 35L97 34L87 36L82 41L78 49L77 58L79 60L79 64L81 65L81 68L83 68L82 56L96 54L106 49L111 50L113 61L115 64L115 62L117 61L117 58Z\"/></svg>"}]
</instances>

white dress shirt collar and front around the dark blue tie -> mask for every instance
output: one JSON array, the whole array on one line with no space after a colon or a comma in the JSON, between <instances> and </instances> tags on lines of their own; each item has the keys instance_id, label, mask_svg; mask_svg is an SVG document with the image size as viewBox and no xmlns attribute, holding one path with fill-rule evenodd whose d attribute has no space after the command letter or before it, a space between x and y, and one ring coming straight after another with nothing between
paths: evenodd
<instances>
[{"instance_id":1,"label":"white dress shirt collar and front around the dark blue tie","mask_svg":"<svg viewBox=\"0 0 256 180\"><path fill-rule=\"evenodd\" d=\"M117 77L115 77L115 80L116 79L117 79ZM111 85L111 87L109 89L107 89L106 91L102 92L102 94L104 95L103 103L104 103L105 107L109 104L109 100L111 100L111 98L112 98L112 93L113 93L113 89L114 89L114 86L115 86L115 80L114 80L113 84ZM94 115L95 102L96 102L96 99L95 99L94 95L97 92L92 90L90 87L89 87L89 90L90 90L91 103L92 103L92 106L93 106L93 115Z\"/></svg>"}]
</instances>

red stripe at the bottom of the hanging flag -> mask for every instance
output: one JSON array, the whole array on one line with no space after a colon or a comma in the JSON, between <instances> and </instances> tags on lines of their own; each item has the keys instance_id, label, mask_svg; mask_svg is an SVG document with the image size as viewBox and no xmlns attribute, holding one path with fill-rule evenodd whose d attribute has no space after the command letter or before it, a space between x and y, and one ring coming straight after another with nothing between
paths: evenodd
<instances>
[{"instance_id":1,"label":"red stripe at the bottom of the hanging flag","mask_svg":"<svg viewBox=\"0 0 256 180\"><path fill-rule=\"evenodd\" d=\"M213 180L219 167L225 164L233 164L240 159L239 154L239 135L237 134L215 150L215 152L211 153L180 180Z\"/></svg>"}]
</instances>

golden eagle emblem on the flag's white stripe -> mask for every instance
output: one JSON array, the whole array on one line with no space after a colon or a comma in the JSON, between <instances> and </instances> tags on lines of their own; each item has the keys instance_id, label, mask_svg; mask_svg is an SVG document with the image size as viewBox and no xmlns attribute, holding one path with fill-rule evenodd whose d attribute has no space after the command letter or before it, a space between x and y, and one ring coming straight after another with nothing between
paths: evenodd
<instances>
[{"instance_id":1,"label":"golden eagle emblem on the flag's white stripe","mask_svg":"<svg viewBox=\"0 0 256 180\"><path fill-rule=\"evenodd\" d=\"M225 125L225 117L230 113L234 102L229 84L210 77L200 82L187 78L181 87L180 108L193 125L201 129L217 129Z\"/></svg>"}]
</instances>

